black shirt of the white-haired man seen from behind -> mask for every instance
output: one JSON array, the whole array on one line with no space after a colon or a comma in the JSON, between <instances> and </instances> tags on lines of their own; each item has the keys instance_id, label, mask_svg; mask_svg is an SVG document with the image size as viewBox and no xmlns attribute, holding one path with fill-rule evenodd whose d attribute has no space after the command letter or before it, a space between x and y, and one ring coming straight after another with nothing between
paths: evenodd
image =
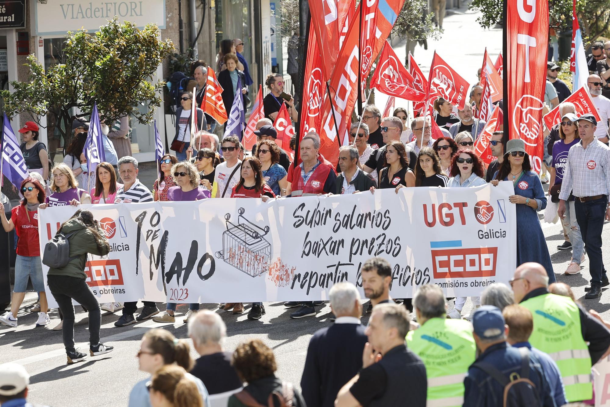
<instances>
[{"instance_id":1,"label":"black shirt of the white-haired man seen from behind","mask_svg":"<svg viewBox=\"0 0 610 407\"><path fill-rule=\"evenodd\" d=\"M209 394L239 389L242 381L231 366L231 355L231 352L218 352L201 356L195 361L190 374L203 381Z\"/></svg>"}]
</instances>

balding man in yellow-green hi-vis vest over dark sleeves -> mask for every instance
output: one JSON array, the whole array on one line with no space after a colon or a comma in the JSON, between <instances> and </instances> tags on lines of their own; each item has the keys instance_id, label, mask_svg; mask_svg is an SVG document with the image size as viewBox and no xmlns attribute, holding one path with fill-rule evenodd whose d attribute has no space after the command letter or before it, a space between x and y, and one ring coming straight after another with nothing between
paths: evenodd
<instances>
[{"instance_id":1,"label":"balding man in yellow-green hi-vis vest over dark sleeves","mask_svg":"<svg viewBox=\"0 0 610 407\"><path fill-rule=\"evenodd\" d=\"M515 302L534 317L529 342L559 366L566 400L589 400L593 395L590 370L610 354L610 331L572 298L550 294L547 271L539 263L520 265L511 286Z\"/></svg>"}]
</instances>

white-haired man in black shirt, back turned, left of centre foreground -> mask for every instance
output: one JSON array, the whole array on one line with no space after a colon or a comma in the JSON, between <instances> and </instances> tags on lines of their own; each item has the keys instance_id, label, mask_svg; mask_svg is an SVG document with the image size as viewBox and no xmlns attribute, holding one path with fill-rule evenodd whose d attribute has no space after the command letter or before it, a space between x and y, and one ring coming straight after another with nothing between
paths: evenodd
<instances>
[{"instance_id":1,"label":"white-haired man in black shirt, back turned, left of centre foreground","mask_svg":"<svg viewBox=\"0 0 610 407\"><path fill-rule=\"evenodd\" d=\"M190 373L203 381L210 396L223 394L228 397L242 389L242 381L231 365L232 352L223 350L226 336L224 321L210 310L199 311L188 321L188 337L201 356Z\"/></svg>"}]
</instances>

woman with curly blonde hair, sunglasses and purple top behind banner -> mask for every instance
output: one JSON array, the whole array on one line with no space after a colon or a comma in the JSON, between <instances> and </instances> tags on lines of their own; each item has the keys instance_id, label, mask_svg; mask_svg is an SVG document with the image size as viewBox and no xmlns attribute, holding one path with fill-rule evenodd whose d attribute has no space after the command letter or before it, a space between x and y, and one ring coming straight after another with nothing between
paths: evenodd
<instances>
[{"instance_id":1,"label":"woman with curly blonde hair, sunglasses and purple top behind banner","mask_svg":"<svg viewBox=\"0 0 610 407\"><path fill-rule=\"evenodd\" d=\"M175 202L179 200L201 200L210 197L210 191L207 189L199 188L199 173L195 168L195 165L189 161L181 161L171 167L171 174L174 177L176 186L172 186L167 191L167 200ZM188 312L184 318L184 323L188 322L193 314L199 310L199 303L188 304ZM174 323L176 322L176 303L167 303L167 309L165 312L156 318L152 318L155 322L160 323Z\"/></svg>"}]
</instances>

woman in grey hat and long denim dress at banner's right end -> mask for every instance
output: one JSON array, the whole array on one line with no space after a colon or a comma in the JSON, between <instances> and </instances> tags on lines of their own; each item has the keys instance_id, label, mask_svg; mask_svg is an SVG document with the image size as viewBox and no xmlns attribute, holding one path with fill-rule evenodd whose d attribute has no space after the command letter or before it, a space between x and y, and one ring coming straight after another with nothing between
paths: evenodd
<instances>
[{"instance_id":1,"label":"woman in grey hat and long denim dress at banner's right end","mask_svg":"<svg viewBox=\"0 0 610 407\"><path fill-rule=\"evenodd\" d=\"M515 190L508 198L517 207L517 266L540 263L547 270L549 284L554 283L553 263L538 219L538 211L547 207L547 197L540 178L531 171L523 140L512 139L506 143L504 161L491 183L498 185L500 181L512 181Z\"/></svg>"}]
</instances>

